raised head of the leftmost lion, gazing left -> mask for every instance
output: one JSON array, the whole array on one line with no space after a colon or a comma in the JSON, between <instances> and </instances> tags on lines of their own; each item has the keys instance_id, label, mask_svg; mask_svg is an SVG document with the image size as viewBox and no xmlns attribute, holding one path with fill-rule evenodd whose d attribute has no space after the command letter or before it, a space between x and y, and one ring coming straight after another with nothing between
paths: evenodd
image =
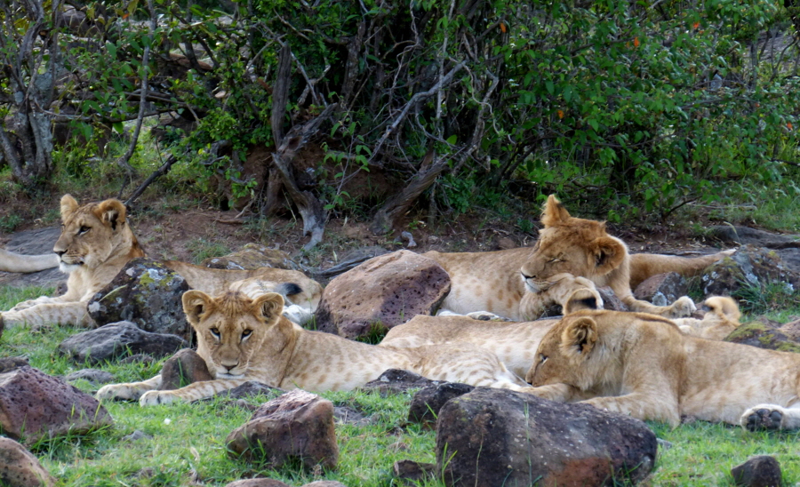
<instances>
[{"instance_id":1,"label":"raised head of the leftmost lion, gazing left","mask_svg":"<svg viewBox=\"0 0 800 487\"><path fill-rule=\"evenodd\" d=\"M60 269L94 269L123 253L141 257L136 237L125 219L125 205L116 199L78 206L70 195L61 197L61 235L53 246Z\"/></svg>"}]
</instances>

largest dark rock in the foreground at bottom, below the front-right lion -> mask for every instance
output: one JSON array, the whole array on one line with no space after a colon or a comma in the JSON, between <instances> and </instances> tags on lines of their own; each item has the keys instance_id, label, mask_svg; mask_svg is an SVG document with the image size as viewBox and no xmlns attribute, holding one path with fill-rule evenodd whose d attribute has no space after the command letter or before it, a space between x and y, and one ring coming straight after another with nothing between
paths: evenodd
<instances>
[{"instance_id":1,"label":"largest dark rock in the foreground at bottom, below the front-right lion","mask_svg":"<svg viewBox=\"0 0 800 487\"><path fill-rule=\"evenodd\" d=\"M479 387L439 411L436 464L447 485L636 483L657 445L638 419Z\"/></svg>"}]
</instances>

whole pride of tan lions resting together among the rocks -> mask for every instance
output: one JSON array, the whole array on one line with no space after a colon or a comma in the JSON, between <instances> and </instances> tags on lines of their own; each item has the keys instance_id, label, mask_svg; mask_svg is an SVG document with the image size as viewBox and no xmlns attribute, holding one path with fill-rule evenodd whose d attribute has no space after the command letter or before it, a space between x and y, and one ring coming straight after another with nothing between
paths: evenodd
<instances>
[{"instance_id":1,"label":"whole pride of tan lions resting together among the rocks","mask_svg":"<svg viewBox=\"0 0 800 487\"><path fill-rule=\"evenodd\" d=\"M60 213L54 255L0 251L0 270L58 265L68 273L67 292L0 313L0 330L94 326L89 299L128 261L145 255L124 204L115 199L79 205L66 195ZM739 325L735 301L710 297L700 315L688 297L654 306L631 292L651 275L695 275L732 251L698 258L630 254L604 223L573 218L555 196L548 197L541 223L532 247L424 254L448 272L452 290L439 315L413 317L377 346L303 329L322 286L298 271L226 271L164 261L192 288L183 297L184 311L197 332L197 352L216 379L159 391L156 376L103 387L98 396L139 399L142 405L191 401L245 380L349 389L399 366L416 367L429 379L580 401L673 426L688 415L750 431L800 427L800 355L722 341ZM602 309L601 286L632 311ZM553 303L564 316L538 320ZM506 321L477 319L487 316ZM350 361L331 366L338 355Z\"/></svg>"}]
</instances>

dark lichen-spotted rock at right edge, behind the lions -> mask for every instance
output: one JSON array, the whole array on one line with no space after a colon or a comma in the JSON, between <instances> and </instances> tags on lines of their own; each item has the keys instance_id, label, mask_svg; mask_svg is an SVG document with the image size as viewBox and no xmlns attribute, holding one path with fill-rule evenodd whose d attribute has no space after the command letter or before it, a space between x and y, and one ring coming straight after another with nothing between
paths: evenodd
<instances>
[{"instance_id":1,"label":"dark lichen-spotted rock at right edge, behind the lions","mask_svg":"<svg viewBox=\"0 0 800 487\"><path fill-rule=\"evenodd\" d=\"M752 245L710 265L700 276L706 296L727 296L747 286L763 290L767 283L785 283L790 294L800 285L800 275L789 270L775 251Z\"/></svg>"}]
</instances>

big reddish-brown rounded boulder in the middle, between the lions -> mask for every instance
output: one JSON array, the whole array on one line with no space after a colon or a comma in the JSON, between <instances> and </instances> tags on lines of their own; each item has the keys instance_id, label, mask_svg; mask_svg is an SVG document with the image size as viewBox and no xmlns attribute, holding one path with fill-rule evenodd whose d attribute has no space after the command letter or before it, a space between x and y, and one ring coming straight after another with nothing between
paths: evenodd
<instances>
[{"instance_id":1,"label":"big reddish-brown rounded boulder in the middle, between the lions","mask_svg":"<svg viewBox=\"0 0 800 487\"><path fill-rule=\"evenodd\" d=\"M433 259L412 251L375 257L325 287L317 330L366 337L375 326L388 329L415 315L430 315L449 291L450 276Z\"/></svg>"}]
</instances>

